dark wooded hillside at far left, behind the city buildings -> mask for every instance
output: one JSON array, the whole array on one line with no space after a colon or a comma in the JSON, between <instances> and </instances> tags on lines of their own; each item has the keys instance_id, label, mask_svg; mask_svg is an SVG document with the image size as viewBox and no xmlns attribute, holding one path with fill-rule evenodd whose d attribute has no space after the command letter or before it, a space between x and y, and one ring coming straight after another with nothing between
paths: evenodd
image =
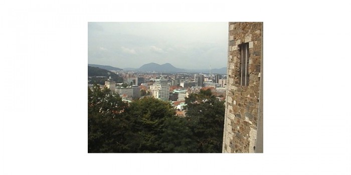
<instances>
[{"instance_id":1,"label":"dark wooded hillside at far left, behind the city buildings","mask_svg":"<svg viewBox=\"0 0 351 175\"><path fill-rule=\"evenodd\" d=\"M123 82L123 78L120 77L118 74L113 73L109 70L105 70L99 67L92 67L88 65L88 76L91 76L91 78L88 78L90 80L90 83L97 83L97 84L104 84L105 80L108 79L109 76L116 82ZM106 76L106 77L95 77L95 76Z\"/></svg>"}]
</instances>

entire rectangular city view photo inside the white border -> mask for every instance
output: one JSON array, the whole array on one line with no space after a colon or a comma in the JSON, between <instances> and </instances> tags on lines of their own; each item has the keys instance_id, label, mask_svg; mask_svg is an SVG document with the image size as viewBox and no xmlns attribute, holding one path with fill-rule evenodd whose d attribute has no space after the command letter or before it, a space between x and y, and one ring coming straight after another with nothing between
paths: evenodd
<instances>
[{"instance_id":1,"label":"entire rectangular city view photo inside the white border","mask_svg":"<svg viewBox=\"0 0 351 175\"><path fill-rule=\"evenodd\" d=\"M263 152L262 38L262 22L89 22L88 152Z\"/></svg>"}]
</instances>

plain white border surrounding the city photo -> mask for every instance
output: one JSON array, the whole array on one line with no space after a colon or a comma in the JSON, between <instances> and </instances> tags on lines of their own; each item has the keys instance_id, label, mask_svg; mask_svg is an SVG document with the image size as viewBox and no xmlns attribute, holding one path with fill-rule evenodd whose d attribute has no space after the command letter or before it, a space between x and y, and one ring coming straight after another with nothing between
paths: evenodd
<instances>
[{"instance_id":1,"label":"plain white border surrounding the city photo","mask_svg":"<svg viewBox=\"0 0 351 175\"><path fill-rule=\"evenodd\" d=\"M4 0L0 14L0 174L351 173L346 1ZM88 154L88 21L263 21L264 153Z\"/></svg>"}]
</instances>

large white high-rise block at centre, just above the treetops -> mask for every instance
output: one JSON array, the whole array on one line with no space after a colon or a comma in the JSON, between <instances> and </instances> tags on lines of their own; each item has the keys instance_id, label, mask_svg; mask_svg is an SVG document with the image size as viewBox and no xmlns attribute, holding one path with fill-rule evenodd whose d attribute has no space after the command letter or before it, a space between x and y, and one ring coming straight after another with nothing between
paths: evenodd
<instances>
[{"instance_id":1,"label":"large white high-rise block at centre, just above the treetops","mask_svg":"<svg viewBox=\"0 0 351 175\"><path fill-rule=\"evenodd\" d=\"M169 99L169 85L167 79L155 79L153 85L150 85L152 94L155 98L168 100Z\"/></svg>"}]
</instances>

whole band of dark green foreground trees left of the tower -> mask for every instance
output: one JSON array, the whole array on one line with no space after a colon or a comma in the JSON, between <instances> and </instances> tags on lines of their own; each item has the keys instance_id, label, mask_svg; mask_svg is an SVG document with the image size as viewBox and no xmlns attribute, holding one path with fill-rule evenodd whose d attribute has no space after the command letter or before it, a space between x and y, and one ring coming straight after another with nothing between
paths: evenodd
<instances>
[{"instance_id":1,"label":"whole band of dark green foreground trees left of the tower","mask_svg":"<svg viewBox=\"0 0 351 175\"><path fill-rule=\"evenodd\" d=\"M186 117L169 102L129 104L109 89L88 89L88 152L221 152L224 102L202 90L186 99Z\"/></svg>"}]
</instances>

